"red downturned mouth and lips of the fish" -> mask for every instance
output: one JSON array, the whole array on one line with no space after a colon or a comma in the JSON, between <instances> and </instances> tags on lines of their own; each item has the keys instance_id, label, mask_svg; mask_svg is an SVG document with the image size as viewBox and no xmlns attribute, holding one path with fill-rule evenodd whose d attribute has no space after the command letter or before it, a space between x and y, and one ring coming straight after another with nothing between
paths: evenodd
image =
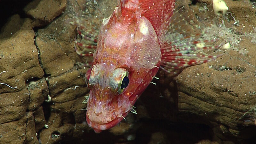
<instances>
[{"instance_id":1,"label":"red downturned mouth and lips of the fish","mask_svg":"<svg viewBox=\"0 0 256 144\"><path fill-rule=\"evenodd\" d=\"M107 129L110 129L114 126L116 126L119 122L121 122L125 116L127 116L129 113L129 111L125 112L121 117L117 117L116 119L108 122L108 123L105 123L105 124L97 124L97 123L93 123L89 117L87 116L87 113L86 113L86 121L87 121L87 124L93 128L94 132L95 133L100 133L101 131L103 130L107 130Z\"/></svg>"}]
</instances>

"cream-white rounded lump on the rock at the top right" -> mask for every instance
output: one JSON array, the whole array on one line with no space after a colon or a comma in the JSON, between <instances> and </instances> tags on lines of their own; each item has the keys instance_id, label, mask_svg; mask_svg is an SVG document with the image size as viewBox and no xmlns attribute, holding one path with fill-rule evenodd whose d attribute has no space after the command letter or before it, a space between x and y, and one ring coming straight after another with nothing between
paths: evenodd
<instances>
[{"instance_id":1,"label":"cream-white rounded lump on the rock at the top right","mask_svg":"<svg viewBox=\"0 0 256 144\"><path fill-rule=\"evenodd\" d=\"M220 16L218 12L222 12L222 17L226 15L226 12L228 11L228 6L223 0L213 0L213 11L216 15Z\"/></svg>"}]
</instances>

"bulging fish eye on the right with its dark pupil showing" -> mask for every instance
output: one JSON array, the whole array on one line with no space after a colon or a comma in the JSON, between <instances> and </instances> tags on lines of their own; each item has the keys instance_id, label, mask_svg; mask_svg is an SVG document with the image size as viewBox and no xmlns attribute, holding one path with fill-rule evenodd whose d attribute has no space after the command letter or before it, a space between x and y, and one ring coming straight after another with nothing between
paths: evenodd
<instances>
[{"instance_id":1,"label":"bulging fish eye on the right with its dark pupil showing","mask_svg":"<svg viewBox=\"0 0 256 144\"><path fill-rule=\"evenodd\" d=\"M129 72L125 68L116 68L109 77L109 86L113 94L121 94L129 84Z\"/></svg>"}]
</instances>

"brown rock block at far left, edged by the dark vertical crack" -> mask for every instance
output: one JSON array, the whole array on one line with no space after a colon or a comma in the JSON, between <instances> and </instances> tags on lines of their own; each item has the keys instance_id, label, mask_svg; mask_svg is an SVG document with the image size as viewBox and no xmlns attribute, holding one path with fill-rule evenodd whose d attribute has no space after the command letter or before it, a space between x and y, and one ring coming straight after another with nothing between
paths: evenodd
<instances>
[{"instance_id":1,"label":"brown rock block at far left, edged by the dark vertical crack","mask_svg":"<svg viewBox=\"0 0 256 144\"><path fill-rule=\"evenodd\" d=\"M30 121L34 119L31 113L28 114L30 120L29 127L26 128L29 103L26 82L44 75L38 62L34 36L31 20L21 19L19 15L9 18L8 23L1 29L0 72L3 73L0 82L4 83L0 84L1 143L25 143L26 139L38 143L36 133L31 129L34 125Z\"/></svg>"}]
</instances>

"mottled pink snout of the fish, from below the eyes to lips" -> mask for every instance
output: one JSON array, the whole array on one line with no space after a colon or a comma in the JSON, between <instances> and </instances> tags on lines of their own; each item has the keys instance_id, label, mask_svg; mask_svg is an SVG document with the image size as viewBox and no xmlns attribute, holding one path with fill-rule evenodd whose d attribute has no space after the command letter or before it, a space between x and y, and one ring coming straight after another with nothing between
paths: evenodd
<instances>
[{"instance_id":1,"label":"mottled pink snout of the fish, from below the eyes to lips","mask_svg":"<svg viewBox=\"0 0 256 144\"><path fill-rule=\"evenodd\" d=\"M95 132L106 130L123 120L129 110L129 99L122 100L120 96L114 96L111 91L107 90L90 92L86 121L96 130Z\"/></svg>"}]
</instances>

